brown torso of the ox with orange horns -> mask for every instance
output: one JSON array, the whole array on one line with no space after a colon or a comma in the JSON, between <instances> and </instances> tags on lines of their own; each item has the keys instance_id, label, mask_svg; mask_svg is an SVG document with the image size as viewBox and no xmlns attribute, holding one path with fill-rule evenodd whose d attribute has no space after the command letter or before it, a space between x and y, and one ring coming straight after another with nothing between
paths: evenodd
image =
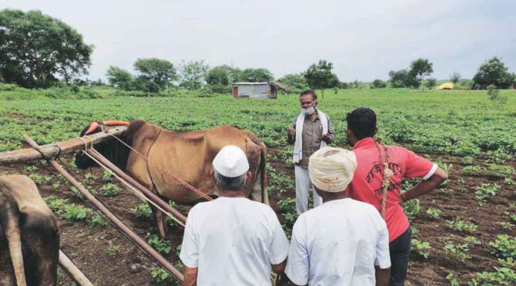
<instances>
[{"instance_id":1,"label":"brown torso of the ox with orange horns","mask_svg":"<svg viewBox=\"0 0 516 286\"><path fill-rule=\"evenodd\" d=\"M211 180L212 162L225 145L236 145L246 153L253 173L248 191L260 177L262 155L265 157L262 152L266 151L259 138L251 132L231 126L191 132L169 131L141 122L138 128L135 126L131 130L131 126L128 129L131 138L126 140L131 141L138 152L147 155L150 163L132 152L127 172L177 203L195 203L201 197L162 170L177 175L208 195L217 196L218 191Z\"/></svg>"}]
</instances>

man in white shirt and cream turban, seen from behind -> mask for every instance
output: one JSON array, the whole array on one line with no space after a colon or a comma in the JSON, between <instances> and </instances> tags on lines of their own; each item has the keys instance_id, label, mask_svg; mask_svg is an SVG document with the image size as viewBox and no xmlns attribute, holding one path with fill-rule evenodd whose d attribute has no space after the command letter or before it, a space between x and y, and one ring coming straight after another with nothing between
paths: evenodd
<instances>
[{"instance_id":1,"label":"man in white shirt and cream turban, seen from behind","mask_svg":"<svg viewBox=\"0 0 516 286\"><path fill-rule=\"evenodd\" d=\"M296 285L389 284L389 233L370 204L347 198L357 159L325 147L310 157L310 181L324 202L299 216L285 273Z\"/></svg>"}]
</instances>

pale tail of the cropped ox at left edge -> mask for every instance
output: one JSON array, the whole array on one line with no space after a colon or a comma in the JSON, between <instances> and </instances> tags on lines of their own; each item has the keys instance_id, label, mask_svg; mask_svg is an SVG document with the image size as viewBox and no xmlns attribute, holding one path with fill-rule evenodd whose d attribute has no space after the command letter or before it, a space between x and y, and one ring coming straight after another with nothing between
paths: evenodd
<instances>
[{"instance_id":1,"label":"pale tail of the cropped ox at left edge","mask_svg":"<svg viewBox=\"0 0 516 286\"><path fill-rule=\"evenodd\" d=\"M4 229L7 238L16 283L18 286L26 286L18 204L0 191L0 209L2 209L0 213L0 226Z\"/></svg>"}]
</instances>

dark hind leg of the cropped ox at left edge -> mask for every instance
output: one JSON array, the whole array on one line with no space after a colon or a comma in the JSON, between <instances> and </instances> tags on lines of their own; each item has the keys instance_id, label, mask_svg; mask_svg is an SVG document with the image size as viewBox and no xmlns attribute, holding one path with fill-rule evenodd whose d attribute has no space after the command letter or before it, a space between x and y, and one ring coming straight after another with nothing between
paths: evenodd
<instances>
[{"instance_id":1,"label":"dark hind leg of the cropped ox at left edge","mask_svg":"<svg viewBox=\"0 0 516 286\"><path fill-rule=\"evenodd\" d=\"M22 233L34 254L36 268L30 271L35 274L35 284L56 285L59 261L59 230L56 219L49 214L26 214Z\"/></svg>"}]
</instances>

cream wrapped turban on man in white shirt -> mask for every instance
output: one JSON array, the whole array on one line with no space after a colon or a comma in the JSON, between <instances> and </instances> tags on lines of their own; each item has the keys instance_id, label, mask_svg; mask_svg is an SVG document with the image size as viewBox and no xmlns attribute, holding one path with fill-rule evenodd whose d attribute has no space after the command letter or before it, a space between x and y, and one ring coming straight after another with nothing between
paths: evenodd
<instances>
[{"instance_id":1,"label":"cream wrapped turban on man in white shirt","mask_svg":"<svg viewBox=\"0 0 516 286\"><path fill-rule=\"evenodd\" d=\"M308 172L312 184L321 191L344 191L357 169L353 151L324 147L310 156Z\"/></svg>"}]
</instances>

